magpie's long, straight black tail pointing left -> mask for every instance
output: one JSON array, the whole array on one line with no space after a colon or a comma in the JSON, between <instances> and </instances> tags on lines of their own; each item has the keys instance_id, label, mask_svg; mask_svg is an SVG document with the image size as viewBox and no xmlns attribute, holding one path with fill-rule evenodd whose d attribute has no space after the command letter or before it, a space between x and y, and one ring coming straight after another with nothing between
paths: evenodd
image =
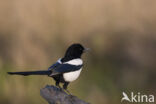
<instances>
[{"instance_id":1,"label":"magpie's long, straight black tail pointing left","mask_svg":"<svg viewBox=\"0 0 156 104\"><path fill-rule=\"evenodd\" d=\"M26 72L8 72L10 75L50 75L52 71L44 70L44 71L26 71Z\"/></svg>"}]
</instances>

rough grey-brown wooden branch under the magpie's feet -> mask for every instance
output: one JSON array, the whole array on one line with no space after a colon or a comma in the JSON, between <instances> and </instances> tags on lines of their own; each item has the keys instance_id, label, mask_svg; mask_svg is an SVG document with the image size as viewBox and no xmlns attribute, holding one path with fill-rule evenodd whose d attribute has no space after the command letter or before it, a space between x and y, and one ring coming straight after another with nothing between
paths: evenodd
<instances>
[{"instance_id":1,"label":"rough grey-brown wooden branch under the magpie's feet","mask_svg":"<svg viewBox=\"0 0 156 104\"><path fill-rule=\"evenodd\" d=\"M40 94L49 104L89 104L53 85L42 88Z\"/></svg>"}]
</instances>

